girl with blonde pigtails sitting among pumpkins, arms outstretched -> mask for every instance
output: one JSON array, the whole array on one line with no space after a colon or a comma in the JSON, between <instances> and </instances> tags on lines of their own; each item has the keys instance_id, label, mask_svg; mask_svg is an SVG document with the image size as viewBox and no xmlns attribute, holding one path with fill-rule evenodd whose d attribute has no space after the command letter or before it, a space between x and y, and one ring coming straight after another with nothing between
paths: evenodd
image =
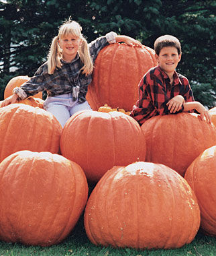
<instances>
[{"instance_id":1,"label":"girl with blonde pigtails sitting among pumpkins, arms outstretched","mask_svg":"<svg viewBox=\"0 0 216 256\"><path fill-rule=\"evenodd\" d=\"M91 109L85 99L88 85L91 83L93 63L99 51L115 42L142 46L129 36L117 36L109 32L87 44L77 22L64 22L50 46L48 61L39 67L30 81L13 89L13 95L3 100L1 106L15 103L19 98L34 96L46 91L44 109L52 113L62 127L78 110Z\"/></svg>"}]
</instances>

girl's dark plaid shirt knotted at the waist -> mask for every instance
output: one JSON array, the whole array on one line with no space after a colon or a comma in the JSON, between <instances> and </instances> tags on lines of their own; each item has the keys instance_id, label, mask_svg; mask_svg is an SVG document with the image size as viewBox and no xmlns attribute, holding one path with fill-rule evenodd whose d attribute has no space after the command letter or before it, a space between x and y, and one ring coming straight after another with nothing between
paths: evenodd
<instances>
[{"instance_id":1,"label":"girl's dark plaid shirt knotted at the waist","mask_svg":"<svg viewBox=\"0 0 216 256\"><path fill-rule=\"evenodd\" d=\"M113 32L107 35L109 36L111 33ZM89 44L89 51L93 63L95 63L99 51L109 44L106 36L101 36ZM78 102L85 102L87 89L92 80L91 75L86 76L80 72L83 64L78 54L71 63L61 62L62 67L55 69L52 75L48 74L47 62L44 63L38 68L30 81L20 86L20 88L15 88L13 92L17 93L20 98L34 96L42 91L47 91L48 96L72 93L74 100L78 98Z\"/></svg>"}]
</instances>

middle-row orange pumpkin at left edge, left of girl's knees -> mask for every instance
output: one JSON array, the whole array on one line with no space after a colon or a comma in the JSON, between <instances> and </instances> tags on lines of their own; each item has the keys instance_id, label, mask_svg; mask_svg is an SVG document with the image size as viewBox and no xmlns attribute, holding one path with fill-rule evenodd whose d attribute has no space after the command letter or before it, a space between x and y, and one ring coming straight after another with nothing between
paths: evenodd
<instances>
[{"instance_id":1,"label":"middle-row orange pumpkin at left edge, left of girl's knees","mask_svg":"<svg viewBox=\"0 0 216 256\"><path fill-rule=\"evenodd\" d=\"M0 108L0 162L19 150L58 153L62 127L48 111L25 104Z\"/></svg>"}]
</instances>

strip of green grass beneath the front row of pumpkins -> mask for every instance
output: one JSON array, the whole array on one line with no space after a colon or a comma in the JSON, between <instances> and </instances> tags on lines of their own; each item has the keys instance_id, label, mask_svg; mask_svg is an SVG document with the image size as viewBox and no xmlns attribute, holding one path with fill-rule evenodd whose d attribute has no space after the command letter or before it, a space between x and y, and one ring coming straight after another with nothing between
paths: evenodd
<instances>
[{"instance_id":1,"label":"strip of green grass beneath the front row of pumpkins","mask_svg":"<svg viewBox=\"0 0 216 256\"><path fill-rule=\"evenodd\" d=\"M195 240L184 245L180 249L157 249L157 250L136 250L136 249L115 249L111 247L97 247L93 245L83 226L83 218L70 235L59 245L51 247L27 247L21 244L0 242L0 256L216 256L216 240L213 237L205 236L201 232Z\"/></svg>"}]
</instances>

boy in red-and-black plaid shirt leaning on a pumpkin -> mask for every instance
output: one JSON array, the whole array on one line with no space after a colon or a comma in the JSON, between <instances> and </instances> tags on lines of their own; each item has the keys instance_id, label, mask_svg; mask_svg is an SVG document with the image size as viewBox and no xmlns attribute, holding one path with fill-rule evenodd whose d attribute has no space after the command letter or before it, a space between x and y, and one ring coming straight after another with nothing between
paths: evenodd
<instances>
[{"instance_id":1,"label":"boy in red-and-black plaid shirt leaning on a pumpkin","mask_svg":"<svg viewBox=\"0 0 216 256\"><path fill-rule=\"evenodd\" d=\"M208 110L194 100L188 79L175 71L182 55L179 40L170 35L160 36L154 42L154 51L158 66L142 77L139 100L133 106L131 117L142 125L156 115L195 109L201 114L201 120L211 123Z\"/></svg>"}]
</instances>

